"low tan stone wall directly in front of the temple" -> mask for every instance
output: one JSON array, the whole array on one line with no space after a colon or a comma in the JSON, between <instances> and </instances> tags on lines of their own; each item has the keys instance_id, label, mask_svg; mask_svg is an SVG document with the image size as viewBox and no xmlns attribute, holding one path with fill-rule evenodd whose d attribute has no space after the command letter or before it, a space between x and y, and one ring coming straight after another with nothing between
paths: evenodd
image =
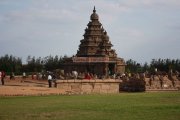
<instances>
[{"instance_id":1,"label":"low tan stone wall directly in front of the temple","mask_svg":"<svg viewBox=\"0 0 180 120\"><path fill-rule=\"evenodd\" d=\"M58 80L57 88L67 93L119 93L122 80Z\"/></svg>"}]
</instances>

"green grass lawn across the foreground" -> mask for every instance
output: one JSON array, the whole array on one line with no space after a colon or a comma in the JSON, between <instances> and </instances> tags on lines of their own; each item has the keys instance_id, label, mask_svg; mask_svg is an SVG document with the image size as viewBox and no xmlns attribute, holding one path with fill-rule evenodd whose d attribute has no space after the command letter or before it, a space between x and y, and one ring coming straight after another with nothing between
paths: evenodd
<instances>
[{"instance_id":1,"label":"green grass lawn across the foreground","mask_svg":"<svg viewBox=\"0 0 180 120\"><path fill-rule=\"evenodd\" d=\"M180 120L180 92L0 97L0 120Z\"/></svg>"}]
</instances>

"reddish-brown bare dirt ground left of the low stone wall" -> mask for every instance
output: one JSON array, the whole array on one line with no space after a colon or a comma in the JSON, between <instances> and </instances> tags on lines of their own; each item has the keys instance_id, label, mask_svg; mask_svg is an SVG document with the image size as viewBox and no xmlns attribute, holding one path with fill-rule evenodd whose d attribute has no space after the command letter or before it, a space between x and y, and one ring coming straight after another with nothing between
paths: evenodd
<instances>
[{"instance_id":1,"label":"reddish-brown bare dirt ground left of the low stone wall","mask_svg":"<svg viewBox=\"0 0 180 120\"><path fill-rule=\"evenodd\" d=\"M58 88L49 88L47 80L32 80L26 78L22 81L22 78L15 78L10 80L5 78L5 85L0 81L0 96L28 96L28 95L59 95L66 94Z\"/></svg>"}]
</instances>

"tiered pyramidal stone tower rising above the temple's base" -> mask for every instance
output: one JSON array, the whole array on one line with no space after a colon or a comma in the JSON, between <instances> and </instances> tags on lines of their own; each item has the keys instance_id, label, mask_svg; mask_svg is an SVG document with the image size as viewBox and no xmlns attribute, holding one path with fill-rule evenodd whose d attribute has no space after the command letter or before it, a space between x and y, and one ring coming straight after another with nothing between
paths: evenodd
<instances>
[{"instance_id":1,"label":"tiered pyramidal stone tower rising above the temple's base","mask_svg":"<svg viewBox=\"0 0 180 120\"><path fill-rule=\"evenodd\" d=\"M78 57L117 57L115 50L111 49L112 44L109 41L107 32L99 22L99 16L95 7L90 17L91 21L85 29L84 39L81 40Z\"/></svg>"}]
</instances>

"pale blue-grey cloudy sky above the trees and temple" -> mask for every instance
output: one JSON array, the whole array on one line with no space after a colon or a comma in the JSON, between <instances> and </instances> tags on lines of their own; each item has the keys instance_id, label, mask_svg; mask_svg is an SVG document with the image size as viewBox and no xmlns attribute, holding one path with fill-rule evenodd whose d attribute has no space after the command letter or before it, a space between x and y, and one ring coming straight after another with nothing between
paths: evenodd
<instances>
[{"instance_id":1,"label":"pale blue-grey cloudy sky above the trees and temple","mask_svg":"<svg viewBox=\"0 0 180 120\"><path fill-rule=\"evenodd\" d=\"M0 56L75 55L94 6L118 57L180 59L180 0L0 0Z\"/></svg>"}]
</instances>

